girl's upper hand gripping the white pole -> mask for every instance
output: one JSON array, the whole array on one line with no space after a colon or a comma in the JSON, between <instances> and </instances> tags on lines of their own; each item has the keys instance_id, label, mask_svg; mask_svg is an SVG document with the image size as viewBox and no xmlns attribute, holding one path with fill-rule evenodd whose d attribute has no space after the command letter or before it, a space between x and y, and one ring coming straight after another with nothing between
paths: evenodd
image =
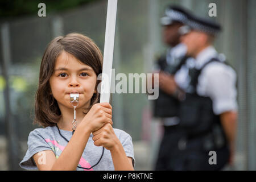
<instances>
[{"instance_id":1,"label":"girl's upper hand gripping the white pole","mask_svg":"<svg viewBox=\"0 0 256 182\"><path fill-rule=\"evenodd\" d=\"M106 123L112 126L112 106L108 102L94 104L82 119L82 123L85 123L90 133L97 131Z\"/></svg>"}]
</instances>

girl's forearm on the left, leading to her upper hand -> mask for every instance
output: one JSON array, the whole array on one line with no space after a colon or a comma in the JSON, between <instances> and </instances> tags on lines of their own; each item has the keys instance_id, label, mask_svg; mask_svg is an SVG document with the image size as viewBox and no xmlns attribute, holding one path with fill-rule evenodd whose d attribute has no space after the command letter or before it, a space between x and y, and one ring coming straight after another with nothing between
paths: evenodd
<instances>
[{"instance_id":1,"label":"girl's forearm on the left, leading to her upper hand","mask_svg":"<svg viewBox=\"0 0 256 182\"><path fill-rule=\"evenodd\" d=\"M89 130L86 130L86 127L82 127L82 125L79 125L71 140L68 142L63 152L61 152L59 158L53 164L51 170L75 171L81 159L82 152L84 152L84 148L86 146L86 143L88 142L89 137ZM74 148L76 148L76 150L74 150Z\"/></svg>"}]
</instances>

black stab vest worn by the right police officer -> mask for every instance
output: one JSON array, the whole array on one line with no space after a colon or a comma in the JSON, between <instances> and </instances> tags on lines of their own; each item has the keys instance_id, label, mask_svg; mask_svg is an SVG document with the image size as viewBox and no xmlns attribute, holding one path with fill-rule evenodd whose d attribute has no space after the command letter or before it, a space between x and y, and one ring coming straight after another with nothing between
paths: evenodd
<instances>
[{"instance_id":1,"label":"black stab vest worn by the right police officer","mask_svg":"<svg viewBox=\"0 0 256 182\"><path fill-rule=\"evenodd\" d=\"M199 96L196 92L201 71L213 61L222 63L220 60L213 58L208 63L205 63L201 69L194 68L189 70L189 76L191 77L189 87L192 91L186 93L185 99L180 102L179 125L185 130L188 139L202 138L210 134L210 140L214 143L213 148L221 148L227 142L221 126L220 116L213 113L212 99Z\"/></svg>"}]
</instances>

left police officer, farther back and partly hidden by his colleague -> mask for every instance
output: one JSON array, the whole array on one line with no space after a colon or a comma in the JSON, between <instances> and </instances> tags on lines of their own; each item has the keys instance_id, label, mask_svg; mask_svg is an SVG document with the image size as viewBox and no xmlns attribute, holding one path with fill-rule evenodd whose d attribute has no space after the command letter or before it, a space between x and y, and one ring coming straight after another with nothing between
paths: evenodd
<instances>
[{"instance_id":1,"label":"left police officer, farther back and partly hidden by his colleague","mask_svg":"<svg viewBox=\"0 0 256 182\"><path fill-rule=\"evenodd\" d=\"M184 26L188 14L187 10L179 6L169 6L161 19L163 40L170 48L156 63L159 69L159 97L154 101L154 117L161 118L164 129L156 160L156 170L174 169L172 155L179 152L176 146L181 133L178 126L179 100L177 100L176 89L186 85L187 79L182 75L188 72L189 64L189 59L185 56L187 48L180 43L179 28Z\"/></svg>"}]
</instances>

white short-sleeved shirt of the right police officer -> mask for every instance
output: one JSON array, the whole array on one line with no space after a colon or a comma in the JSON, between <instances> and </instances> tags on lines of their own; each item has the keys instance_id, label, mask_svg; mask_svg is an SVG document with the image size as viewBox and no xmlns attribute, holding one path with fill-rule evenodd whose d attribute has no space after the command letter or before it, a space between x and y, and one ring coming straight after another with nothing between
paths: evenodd
<instances>
[{"instance_id":1,"label":"white short-sleeved shirt of the right police officer","mask_svg":"<svg viewBox=\"0 0 256 182\"><path fill-rule=\"evenodd\" d=\"M220 59L217 51L209 46L197 55L195 67L200 69L213 57ZM220 59L225 61L224 59ZM225 111L237 110L236 72L229 65L216 61L209 63L202 70L198 84L197 94L210 97L213 101L213 112L218 115Z\"/></svg>"}]
</instances>

